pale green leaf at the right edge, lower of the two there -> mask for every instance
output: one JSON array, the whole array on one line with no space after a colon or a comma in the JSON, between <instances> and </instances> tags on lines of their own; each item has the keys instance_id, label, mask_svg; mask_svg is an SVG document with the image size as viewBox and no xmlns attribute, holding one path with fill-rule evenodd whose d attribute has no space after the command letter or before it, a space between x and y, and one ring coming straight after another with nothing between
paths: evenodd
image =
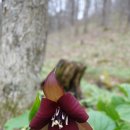
<instances>
[{"instance_id":1,"label":"pale green leaf at the right edge, lower of the two there","mask_svg":"<svg viewBox=\"0 0 130 130\"><path fill-rule=\"evenodd\" d=\"M116 108L120 119L130 123L130 104L119 105Z\"/></svg>"}]
</instances>

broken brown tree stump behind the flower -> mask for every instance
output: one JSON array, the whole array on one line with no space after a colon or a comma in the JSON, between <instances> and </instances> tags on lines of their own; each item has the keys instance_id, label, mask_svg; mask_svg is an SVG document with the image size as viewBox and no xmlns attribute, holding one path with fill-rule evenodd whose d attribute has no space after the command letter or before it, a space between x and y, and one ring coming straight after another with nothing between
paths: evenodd
<instances>
[{"instance_id":1,"label":"broken brown tree stump behind the flower","mask_svg":"<svg viewBox=\"0 0 130 130\"><path fill-rule=\"evenodd\" d=\"M85 70L86 66L82 63L61 59L56 65L55 73L64 89L73 92L76 98L81 99L80 81Z\"/></svg>"}]
</instances>

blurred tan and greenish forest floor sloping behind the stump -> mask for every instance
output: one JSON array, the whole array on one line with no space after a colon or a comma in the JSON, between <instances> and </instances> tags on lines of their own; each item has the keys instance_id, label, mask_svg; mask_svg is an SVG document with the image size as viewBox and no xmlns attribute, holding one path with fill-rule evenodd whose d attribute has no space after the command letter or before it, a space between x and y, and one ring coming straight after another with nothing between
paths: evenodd
<instances>
[{"instance_id":1,"label":"blurred tan and greenish forest floor sloping behind the stump","mask_svg":"<svg viewBox=\"0 0 130 130\"><path fill-rule=\"evenodd\" d=\"M93 27L87 33L82 30L70 28L49 35L42 77L60 59L68 59L86 64L85 79L90 82L101 77L105 82L130 82L130 33Z\"/></svg>"}]
</instances>

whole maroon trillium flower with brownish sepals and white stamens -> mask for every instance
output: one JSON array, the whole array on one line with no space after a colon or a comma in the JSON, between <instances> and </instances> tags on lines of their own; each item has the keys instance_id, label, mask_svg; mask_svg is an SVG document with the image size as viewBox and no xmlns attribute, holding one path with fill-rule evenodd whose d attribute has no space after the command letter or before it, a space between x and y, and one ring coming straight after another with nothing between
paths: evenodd
<instances>
[{"instance_id":1,"label":"whole maroon trillium flower with brownish sepals and white stamens","mask_svg":"<svg viewBox=\"0 0 130 130\"><path fill-rule=\"evenodd\" d=\"M86 122L88 115L71 93L65 93L52 71L42 84L38 112L30 122L31 130L92 130Z\"/></svg>"}]
</instances>

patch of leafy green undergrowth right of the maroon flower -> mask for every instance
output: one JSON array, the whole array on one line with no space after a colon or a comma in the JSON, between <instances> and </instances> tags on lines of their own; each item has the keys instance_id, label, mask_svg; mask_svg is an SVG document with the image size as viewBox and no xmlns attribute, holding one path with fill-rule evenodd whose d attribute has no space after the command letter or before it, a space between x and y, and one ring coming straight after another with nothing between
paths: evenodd
<instances>
[{"instance_id":1,"label":"patch of leafy green undergrowth right of the maroon flower","mask_svg":"<svg viewBox=\"0 0 130 130\"><path fill-rule=\"evenodd\" d=\"M82 84L85 99L81 103L88 108L94 130L130 130L130 84L119 85L118 92Z\"/></svg>"}]
</instances>

